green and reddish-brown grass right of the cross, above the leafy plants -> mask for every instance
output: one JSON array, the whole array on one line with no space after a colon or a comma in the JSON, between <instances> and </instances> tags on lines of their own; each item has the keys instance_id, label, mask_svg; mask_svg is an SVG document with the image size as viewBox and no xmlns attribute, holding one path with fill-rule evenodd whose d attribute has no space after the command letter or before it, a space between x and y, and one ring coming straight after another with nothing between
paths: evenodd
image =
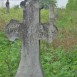
<instances>
[{"instance_id":1,"label":"green and reddish-brown grass right of the cross, above the leafy plants","mask_svg":"<svg viewBox=\"0 0 77 77\"><path fill-rule=\"evenodd\" d=\"M59 33L55 40L56 42L54 41L56 47L63 46L64 49L71 49L77 45L76 13L77 11L59 11L59 18L57 20Z\"/></svg>"}]
</instances>

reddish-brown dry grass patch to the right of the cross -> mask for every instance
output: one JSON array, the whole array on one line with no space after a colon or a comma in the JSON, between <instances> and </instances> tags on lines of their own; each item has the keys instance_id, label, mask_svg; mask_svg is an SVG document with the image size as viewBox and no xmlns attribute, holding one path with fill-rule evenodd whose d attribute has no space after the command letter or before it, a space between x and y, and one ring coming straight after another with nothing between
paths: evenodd
<instances>
[{"instance_id":1,"label":"reddish-brown dry grass patch to the right of the cross","mask_svg":"<svg viewBox=\"0 0 77 77\"><path fill-rule=\"evenodd\" d=\"M59 35L62 37L57 37L52 43L54 48L63 47L64 49L71 49L77 45L77 35L75 33L63 29L59 31Z\"/></svg>"}]
</instances>

